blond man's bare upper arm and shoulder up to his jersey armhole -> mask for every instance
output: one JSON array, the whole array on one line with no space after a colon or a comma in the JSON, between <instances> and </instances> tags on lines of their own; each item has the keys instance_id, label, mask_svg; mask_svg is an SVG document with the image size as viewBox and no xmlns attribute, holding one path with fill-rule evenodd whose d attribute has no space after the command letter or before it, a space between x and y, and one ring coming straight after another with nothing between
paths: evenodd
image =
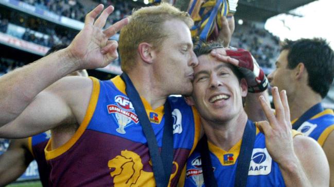
<instances>
[{"instance_id":1,"label":"blond man's bare upper arm and shoulder up to his jersey armhole","mask_svg":"<svg viewBox=\"0 0 334 187\"><path fill-rule=\"evenodd\" d=\"M80 124L92 90L90 78L61 78L39 93L19 116L0 127L0 137L25 138L63 124Z\"/></svg>"}]
</instances>

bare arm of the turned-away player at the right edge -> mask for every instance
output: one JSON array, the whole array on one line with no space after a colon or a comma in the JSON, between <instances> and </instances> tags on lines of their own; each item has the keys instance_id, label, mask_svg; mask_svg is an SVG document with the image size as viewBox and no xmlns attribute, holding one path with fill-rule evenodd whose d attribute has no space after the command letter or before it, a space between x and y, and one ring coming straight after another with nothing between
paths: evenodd
<instances>
[{"instance_id":1,"label":"bare arm of the turned-away player at the right edge","mask_svg":"<svg viewBox=\"0 0 334 187\"><path fill-rule=\"evenodd\" d=\"M326 157L329 162L329 170L330 170L330 185L334 186L334 131L332 131L324 142L323 149L326 154Z\"/></svg>"}]
</instances>

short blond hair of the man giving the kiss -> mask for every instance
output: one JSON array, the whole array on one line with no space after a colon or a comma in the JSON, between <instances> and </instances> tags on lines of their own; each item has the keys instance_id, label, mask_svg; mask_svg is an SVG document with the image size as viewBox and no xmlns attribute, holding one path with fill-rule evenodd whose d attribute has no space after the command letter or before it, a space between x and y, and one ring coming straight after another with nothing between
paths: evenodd
<instances>
[{"instance_id":1,"label":"short blond hair of the man giving the kiss","mask_svg":"<svg viewBox=\"0 0 334 187\"><path fill-rule=\"evenodd\" d=\"M194 25L187 12L182 12L167 3L140 8L135 10L129 18L129 24L122 28L119 35L118 49L121 69L124 72L129 72L135 66L140 43L149 43L153 48L160 50L162 42L168 36L163 28L167 20L179 19L189 28Z\"/></svg>"}]
</instances>

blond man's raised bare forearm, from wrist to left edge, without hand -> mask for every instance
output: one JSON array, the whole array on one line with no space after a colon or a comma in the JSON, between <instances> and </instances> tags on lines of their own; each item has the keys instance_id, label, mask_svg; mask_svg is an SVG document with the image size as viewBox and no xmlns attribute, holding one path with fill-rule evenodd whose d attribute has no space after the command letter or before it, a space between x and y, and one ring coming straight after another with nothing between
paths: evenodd
<instances>
[{"instance_id":1,"label":"blond man's raised bare forearm, from wrist to left edge, without hand","mask_svg":"<svg viewBox=\"0 0 334 187\"><path fill-rule=\"evenodd\" d=\"M64 49L0 77L0 127L15 119L38 93L76 69Z\"/></svg>"}]
</instances>

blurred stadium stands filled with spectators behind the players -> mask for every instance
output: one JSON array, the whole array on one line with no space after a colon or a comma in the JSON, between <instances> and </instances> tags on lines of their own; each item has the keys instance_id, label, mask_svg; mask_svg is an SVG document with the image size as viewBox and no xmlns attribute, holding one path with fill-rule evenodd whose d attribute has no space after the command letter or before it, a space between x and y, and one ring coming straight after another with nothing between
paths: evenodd
<instances>
[{"instance_id":1,"label":"blurred stadium stands filled with spectators behind the players","mask_svg":"<svg viewBox=\"0 0 334 187\"><path fill-rule=\"evenodd\" d=\"M248 5L242 3L244 1L240 2L240 6ZM140 0L138 2L0 0L0 76L42 57L54 44L69 44L83 27L84 15L99 3L105 6L115 6L114 13L108 18L107 26L131 14L133 8L146 6ZM238 16L239 13L245 14L242 7L236 15ZM118 39L117 36L114 39ZM244 18L242 25L236 24L231 40L231 46L251 51L266 74L271 71L277 59L279 43L279 39L266 31L264 27L257 27L252 20ZM119 66L120 60L118 59L104 69L89 71L89 74L100 79L109 79L121 73ZM334 98L334 94L331 97ZM331 99L330 102L334 102L334 99ZM0 154L6 150L6 146L8 147L8 140L0 139ZM32 172L34 168L36 169L36 165L31 166L30 174L36 174ZM36 177L38 174L30 177L25 174L19 180L31 180Z\"/></svg>"}]
</instances>

